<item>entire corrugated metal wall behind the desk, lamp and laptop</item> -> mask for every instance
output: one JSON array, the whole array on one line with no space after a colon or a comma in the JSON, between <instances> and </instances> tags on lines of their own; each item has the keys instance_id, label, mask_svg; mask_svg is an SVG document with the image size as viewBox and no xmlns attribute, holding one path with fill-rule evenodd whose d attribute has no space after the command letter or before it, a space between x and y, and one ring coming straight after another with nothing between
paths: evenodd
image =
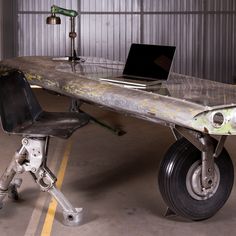
<instances>
[{"instance_id":1,"label":"entire corrugated metal wall behind the desk, lamp and laptop","mask_svg":"<svg viewBox=\"0 0 236 236\"><path fill-rule=\"evenodd\" d=\"M77 49L125 61L132 42L176 45L173 70L232 82L236 74L235 0L18 0L17 55L70 52L69 18L45 24L53 4L79 11Z\"/></svg>"}]
</instances>

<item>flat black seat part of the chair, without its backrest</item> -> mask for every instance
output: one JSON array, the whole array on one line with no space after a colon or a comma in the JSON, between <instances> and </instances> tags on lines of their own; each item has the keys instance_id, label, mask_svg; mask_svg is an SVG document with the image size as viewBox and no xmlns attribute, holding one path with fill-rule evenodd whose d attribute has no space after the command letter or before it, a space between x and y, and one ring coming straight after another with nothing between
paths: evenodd
<instances>
[{"instance_id":1,"label":"flat black seat part of the chair, without its backrest","mask_svg":"<svg viewBox=\"0 0 236 236\"><path fill-rule=\"evenodd\" d=\"M89 117L84 113L42 111L34 122L17 126L10 133L67 139L88 122Z\"/></svg>"}]
</instances>

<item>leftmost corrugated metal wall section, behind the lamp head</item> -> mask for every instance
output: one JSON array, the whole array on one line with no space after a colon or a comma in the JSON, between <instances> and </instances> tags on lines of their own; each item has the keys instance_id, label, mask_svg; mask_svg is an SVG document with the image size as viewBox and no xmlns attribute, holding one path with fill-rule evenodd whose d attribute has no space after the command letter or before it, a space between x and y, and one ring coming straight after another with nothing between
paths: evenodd
<instances>
[{"instance_id":1,"label":"leftmost corrugated metal wall section, behind the lamp head","mask_svg":"<svg viewBox=\"0 0 236 236\"><path fill-rule=\"evenodd\" d=\"M53 4L78 9L76 0L18 0L18 55L65 56L70 52L70 19L60 16L61 25L47 25ZM78 23L78 22L77 22ZM78 24L76 27L78 31Z\"/></svg>"}]
</instances>

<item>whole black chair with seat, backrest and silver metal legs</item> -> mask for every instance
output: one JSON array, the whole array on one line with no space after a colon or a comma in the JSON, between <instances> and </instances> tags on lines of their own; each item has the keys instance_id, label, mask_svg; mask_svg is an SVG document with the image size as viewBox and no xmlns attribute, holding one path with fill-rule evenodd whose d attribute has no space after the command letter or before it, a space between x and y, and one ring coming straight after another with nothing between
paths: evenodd
<instances>
[{"instance_id":1,"label":"whole black chair with seat, backrest and silver metal legs","mask_svg":"<svg viewBox=\"0 0 236 236\"><path fill-rule=\"evenodd\" d=\"M84 113L43 111L24 74L18 70L0 75L0 115L5 132L23 136L21 148L0 178L0 204L8 190L12 191L15 174L28 171L43 191L56 198L63 209L64 223L79 224L82 209L74 208L55 187L56 178L46 166L46 156L49 137L69 138L88 123L89 117Z\"/></svg>"}]
</instances>

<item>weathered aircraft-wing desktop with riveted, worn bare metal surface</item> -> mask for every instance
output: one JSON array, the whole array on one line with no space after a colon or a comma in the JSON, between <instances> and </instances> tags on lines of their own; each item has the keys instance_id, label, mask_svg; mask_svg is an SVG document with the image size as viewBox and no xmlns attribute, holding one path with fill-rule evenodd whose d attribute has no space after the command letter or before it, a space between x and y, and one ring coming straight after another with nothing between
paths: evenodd
<instances>
[{"instance_id":1,"label":"weathered aircraft-wing desktop with riveted, worn bare metal surface","mask_svg":"<svg viewBox=\"0 0 236 236\"><path fill-rule=\"evenodd\" d=\"M84 70L89 66L86 62L81 63L81 70L75 73L71 72L71 66L63 72L61 68L66 68L65 65L71 65L71 62L61 63L47 57L19 57L2 61L1 67L22 70L32 84L142 119L166 125L177 124L210 134L236 134L234 86L172 74L161 86L141 91L97 79L102 76L103 70L106 71L105 75L114 73L113 67L107 67L112 61L107 60L95 66L90 60L90 66L97 68L99 73L96 73L96 69ZM102 71L98 69L101 66ZM118 69L119 73L121 70ZM225 117L220 128L212 122L216 111Z\"/></svg>"}]
</instances>

